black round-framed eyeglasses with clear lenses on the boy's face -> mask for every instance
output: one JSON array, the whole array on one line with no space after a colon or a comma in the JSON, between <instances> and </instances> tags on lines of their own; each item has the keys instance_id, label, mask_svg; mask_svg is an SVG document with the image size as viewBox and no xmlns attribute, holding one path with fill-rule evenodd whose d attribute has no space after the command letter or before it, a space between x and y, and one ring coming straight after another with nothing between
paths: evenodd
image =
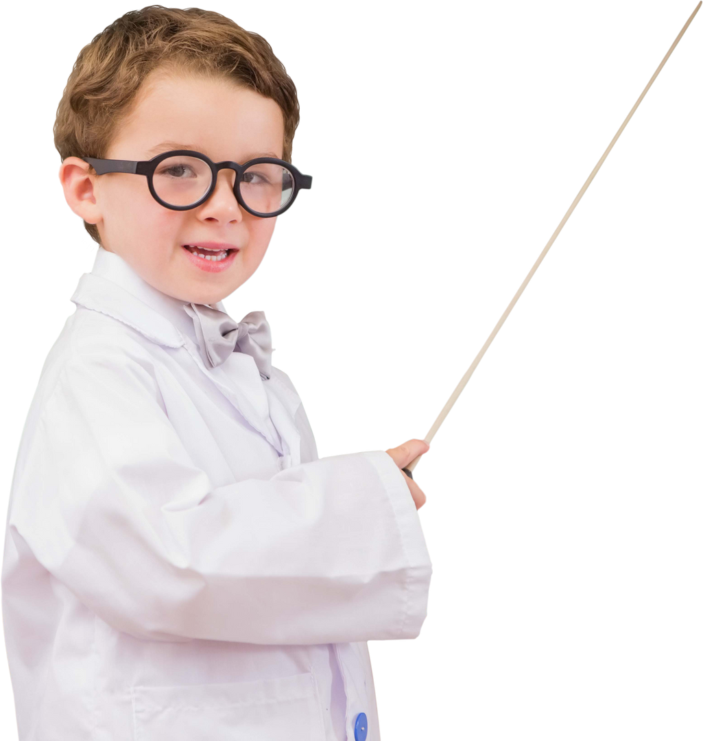
<instances>
[{"instance_id":1,"label":"black round-framed eyeglasses with clear lenses on the boy's face","mask_svg":"<svg viewBox=\"0 0 703 741\"><path fill-rule=\"evenodd\" d=\"M313 190L315 176L297 165L273 157L259 157L238 162L213 162L200 152L179 149L164 152L153 159L133 162L128 159L82 157L98 175L132 173L147 177L149 191L157 203L174 211L196 208L213 194L220 170L236 173L234 194L239 205L253 216L268 219L288 213L301 190Z\"/></svg>"}]
</instances>

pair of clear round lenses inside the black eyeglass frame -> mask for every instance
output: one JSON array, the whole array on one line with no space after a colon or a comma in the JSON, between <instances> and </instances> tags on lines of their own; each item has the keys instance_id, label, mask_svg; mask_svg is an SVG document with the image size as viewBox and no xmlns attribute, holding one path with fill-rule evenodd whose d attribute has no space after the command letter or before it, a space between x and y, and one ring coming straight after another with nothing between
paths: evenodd
<instances>
[{"instance_id":1,"label":"pair of clear round lenses inside the black eyeglass frame","mask_svg":"<svg viewBox=\"0 0 703 741\"><path fill-rule=\"evenodd\" d=\"M207 162L199 157L177 155L159 162L153 175L156 195L171 206L190 206L199 201L213 180ZM250 165L241 173L241 198L257 213L276 213L293 196L293 173L273 162Z\"/></svg>"}]
</instances>

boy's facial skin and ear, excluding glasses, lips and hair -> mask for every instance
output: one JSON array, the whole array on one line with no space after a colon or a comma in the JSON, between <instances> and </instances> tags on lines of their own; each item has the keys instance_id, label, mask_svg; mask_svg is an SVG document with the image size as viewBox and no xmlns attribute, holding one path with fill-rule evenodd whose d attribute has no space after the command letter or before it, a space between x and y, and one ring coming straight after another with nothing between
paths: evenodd
<instances>
[{"instance_id":1,"label":"boy's facial skin and ear, excluding glasses, lips and hair","mask_svg":"<svg viewBox=\"0 0 703 741\"><path fill-rule=\"evenodd\" d=\"M152 159L151 147L170 140L184 146L162 151L190 149L241 165L258 156L282 159L283 133L278 104L253 90L229 81L152 76L105 159ZM213 304L231 296L259 269L276 229L276 217L261 219L239 206L234 170L220 170L210 198L186 211L157 203L142 175L90 175L77 157L67 157L56 177L70 210L99 228L101 249L184 302ZM202 242L224 242L239 252L226 269L208 272L193 265L182 246Z\"/></svg>"}]
</instances>

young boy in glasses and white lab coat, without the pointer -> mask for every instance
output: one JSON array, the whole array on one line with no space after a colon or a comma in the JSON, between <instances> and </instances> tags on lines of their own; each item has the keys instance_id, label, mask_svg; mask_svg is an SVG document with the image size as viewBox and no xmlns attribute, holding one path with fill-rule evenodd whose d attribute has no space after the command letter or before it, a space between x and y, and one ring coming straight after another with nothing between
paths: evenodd
<instances>
[{"instance_id":1,"label":"young boy in glasses and white lab coat, without the pointer","mask_svg":"<svg viewBox=\"0 0 703 741\"><path fill-rule=\"evenodd\" d=\"M64 202L100 248L10 476L18 738L378 741L367 642L414 641L428 615L424 493L401 469L429 445L321 457L266 313L223 301L312 187L290 165L290 76L210 10L107 30L54 121Z\"/></svg>"}]
</instances>

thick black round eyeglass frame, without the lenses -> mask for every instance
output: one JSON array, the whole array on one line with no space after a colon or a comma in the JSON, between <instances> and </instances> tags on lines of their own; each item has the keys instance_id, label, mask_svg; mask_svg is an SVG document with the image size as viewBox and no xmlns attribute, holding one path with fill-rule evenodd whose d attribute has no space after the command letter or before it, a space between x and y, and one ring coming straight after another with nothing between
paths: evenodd
<instances>
[{"instance_id":1,"label":"thick black round eyeglass frame, without the lenses","mask_svg":"<svg viewBox=\"0 0 703 741\"><path fill-rule=\"evenodd\" d=\"M154 190L153 174L156 172L156 167L158 167L159 163L164 159L179 155L199 157L210 167L210 172L213 176L212 182L210 182L210 187L207 189L207 193L205 193L199 201L196 201L190 206L172 206L169 203L162 201L159 196L156 195L156 190ZM242 208L244 208L244 210L248 211L253 216L260 216L262 219L273 219L274 216L283 216L285 213L288 213L288 211L296 205L301 190L310 193L310 190L313 190L313 187L315 187L315 176L312 173L304 173L300 167L293 165L292 162L285 162L283 159L275 159L274 157L258 157L256 159L250 159L249 162L244 162L244 165L239 165L239 162L230 162L227 160L223 160L222 162L213 162L209 157L205 156L201 152L194 152L190 149L176 149L173 150L173 152L164 152L163 154L159 154L152 159L139 161L133 161L130 159L95 159L94 157L81 157L81 159L89 165L92 165L98 175L104 175L106 173L130 173L133 175L146 176L147 182L149 183L149 192L153 196L153 199L165 208L170 208L172 211L189 211L191 208L197 208L199 205L206 202L215 191L217 176L220 170L235 171L236 175L234 179L233 192L236 196L237 202ZM287 167L293 175L293 195L291 196L290 205L285 205L274 213L259 213L258 211L252 210L241 198L241 190L239 190L241 173L243 173L247 167L258 165L260 162Z\"/></svg>"}]
</instances>

